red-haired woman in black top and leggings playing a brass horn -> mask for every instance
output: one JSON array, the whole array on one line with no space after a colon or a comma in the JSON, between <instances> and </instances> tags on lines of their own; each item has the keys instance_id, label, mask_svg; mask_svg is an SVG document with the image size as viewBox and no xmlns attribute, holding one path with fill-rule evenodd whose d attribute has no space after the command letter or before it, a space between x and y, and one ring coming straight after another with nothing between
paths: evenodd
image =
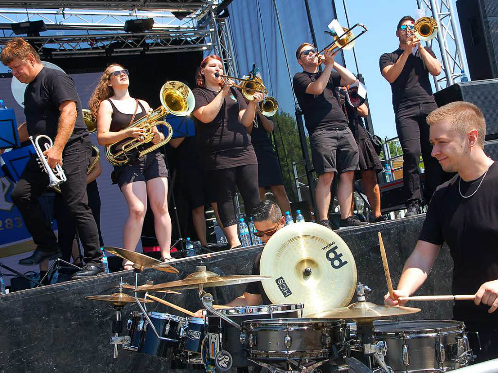
<instances>
[{"instance_id":1,"label":"red-haired woman in black top and leggings playing a brass horn","mask_svg":"<svg viewBox=\"0 0 498 373\"><path fill-rule=\"evenodd\" d=\"M218 204L231 249L240 247L234 208L236 188L244 199L246 214L259 202L257 160L247 128L252 124L260 93L246 104L233 82L224 82L220 57L206 57L197 73L195 110L201 162ZM225 84L226 83L226 84Z\"/></svg>"}]
</instances>

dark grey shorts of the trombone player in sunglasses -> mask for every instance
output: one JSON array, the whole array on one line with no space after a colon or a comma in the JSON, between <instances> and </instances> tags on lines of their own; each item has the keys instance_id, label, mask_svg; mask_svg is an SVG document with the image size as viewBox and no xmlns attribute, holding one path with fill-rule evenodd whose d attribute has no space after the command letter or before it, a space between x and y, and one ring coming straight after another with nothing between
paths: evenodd
<instances>
[{"instance_id":1,"label":"dark grey shorts of the trombone player in sunglasses","mask_svg":"<svg viewBox=\"0 0 498 373\"><path fill-rule=\"evenodd\" d=\"M310 135L313 166L318 175L359 170L358 145L348 127L319 129Z\"/></svg>"}]
</instances>

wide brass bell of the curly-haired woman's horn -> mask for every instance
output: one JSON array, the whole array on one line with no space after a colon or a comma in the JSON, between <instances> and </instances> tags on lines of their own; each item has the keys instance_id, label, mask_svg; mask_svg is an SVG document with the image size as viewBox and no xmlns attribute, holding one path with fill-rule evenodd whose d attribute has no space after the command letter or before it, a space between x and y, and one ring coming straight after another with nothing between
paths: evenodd
<instances>
[{"instance_id":1,"label":"wide brass bell of the curly-haired woman's horn","mask_svg":"<svg viewBox=\"0 0 498 373\"><path fill-rule=\"evenodd\" d=\"M176 80L162 86L160 100L168 112L178 117L190 115L195 108L195 98L190 88Z\"/></svg>"}]
</instances>

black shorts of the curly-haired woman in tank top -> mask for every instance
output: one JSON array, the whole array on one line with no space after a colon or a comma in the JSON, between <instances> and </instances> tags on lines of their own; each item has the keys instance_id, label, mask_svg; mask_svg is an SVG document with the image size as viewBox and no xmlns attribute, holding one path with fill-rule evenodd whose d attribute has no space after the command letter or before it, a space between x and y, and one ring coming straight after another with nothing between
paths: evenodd
<instances>
[{"instance_id":1,"label":"black shorts of the curly-haired woman in tank top","mask_svg":"<svg viewBox=\"0 0 498 373\"><path fill-rule=\"evenodd\" d=\"M121 189L123 185L156 177L168 177L164 154L158 150L145 154L130 164L115 166L113 184L118 184Z\"/></svg>"}]
</instances>

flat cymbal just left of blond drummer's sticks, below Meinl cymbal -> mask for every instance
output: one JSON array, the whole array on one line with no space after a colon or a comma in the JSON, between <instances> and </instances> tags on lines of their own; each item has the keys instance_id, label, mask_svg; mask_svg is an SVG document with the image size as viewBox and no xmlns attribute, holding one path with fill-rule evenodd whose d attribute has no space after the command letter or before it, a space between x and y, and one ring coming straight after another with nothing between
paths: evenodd
<instances>
[{"instance_id":1,"label":"flat cymbal just left of blond drummer's sticks, below Meinl cymbal","mask_svg":"<svg viewBox=\"0 0 498 373\"><path fill-rule=\"evenodd\" d=\"M420 308L377 306L371 302L357 302L348 307L336 308L330 311L319 312L310 317L317 319L346 319L356 322L371 322L392 316L408 315L420 312Z\"/></svg>"}]
</instances>

